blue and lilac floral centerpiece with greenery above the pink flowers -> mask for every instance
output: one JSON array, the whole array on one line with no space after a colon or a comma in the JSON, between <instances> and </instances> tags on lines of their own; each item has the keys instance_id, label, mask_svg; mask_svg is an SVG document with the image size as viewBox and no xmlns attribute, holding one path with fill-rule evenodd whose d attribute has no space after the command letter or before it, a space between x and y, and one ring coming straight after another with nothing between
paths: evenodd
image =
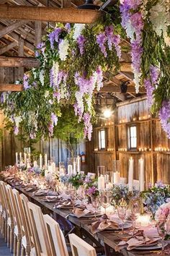
<instances>
[{"instance_id":1,"label":"blue and lilac floral centerpiece with greenery above the pink flowers","mask_svg":"<svg viewBox=\"0 0 170 256\"><path fill-rule=\"evenodd\" d=\"M170 198L170 186L156 182L155 186L150 186L147 191L141 192L141 197L143 204L146 205L145 210L155 218L156 210Z\"/></svg>"}]
</instances>

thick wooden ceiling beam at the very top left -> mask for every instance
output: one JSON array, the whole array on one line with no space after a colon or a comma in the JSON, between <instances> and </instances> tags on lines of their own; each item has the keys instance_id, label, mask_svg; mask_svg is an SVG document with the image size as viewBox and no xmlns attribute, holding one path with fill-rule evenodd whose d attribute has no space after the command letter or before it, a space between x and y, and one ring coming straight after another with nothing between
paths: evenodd
<instances>
[{"instance_id":1,"label":"thick wooden ceiling beam at the very top left","mask_svg":"<svg viewBox=\"0 0 170 256\"><path fill-rule=\"evenodd\" d=\"M102 12L95 10L6 6L1 5L0 18L5 20L40 20L46 22L94 23L99 20Z\"/></svg>"}]
</instances>

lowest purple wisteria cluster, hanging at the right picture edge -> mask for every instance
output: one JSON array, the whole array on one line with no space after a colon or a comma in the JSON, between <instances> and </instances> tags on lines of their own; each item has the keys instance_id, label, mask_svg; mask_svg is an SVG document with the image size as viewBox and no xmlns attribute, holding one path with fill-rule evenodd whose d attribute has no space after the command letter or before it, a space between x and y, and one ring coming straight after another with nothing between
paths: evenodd
<instances>
[{"instance_id":1,"label":"lowest purple wisteria cluster, hanging at the right picture edge","mask_svg":"<svg viewBox=\"0 0 170 256\"><path fill-rule=\"evenodd\" d=\"M158 114L162 129L167 133L167 137L170 139L170 101L165 100L162 102L161 109Z\"/></svg>"}]
</instances>

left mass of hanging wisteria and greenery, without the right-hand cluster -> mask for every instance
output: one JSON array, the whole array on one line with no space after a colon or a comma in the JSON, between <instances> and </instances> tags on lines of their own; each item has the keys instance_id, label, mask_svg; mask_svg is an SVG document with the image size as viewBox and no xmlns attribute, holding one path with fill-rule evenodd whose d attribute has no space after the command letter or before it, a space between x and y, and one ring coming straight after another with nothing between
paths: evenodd
<instances>
[{"instance_id":1,"label":"left mass of hanging wisteria and greenery, without the right-hand cluster","mask_svg":"<svg viewBox=\"0 0 170 256\"><path fill-rule=\"evenodd\" d=\"M83 131L90 140L94 90L102 88L103 72L120 67L118 32L120 25L109 17L94 25L58 24L48 30L35 51L40 67L24 74L24 91L1 95L14 133L22 127L31 138L73 140Z\"/></svg>"}]
</instances>

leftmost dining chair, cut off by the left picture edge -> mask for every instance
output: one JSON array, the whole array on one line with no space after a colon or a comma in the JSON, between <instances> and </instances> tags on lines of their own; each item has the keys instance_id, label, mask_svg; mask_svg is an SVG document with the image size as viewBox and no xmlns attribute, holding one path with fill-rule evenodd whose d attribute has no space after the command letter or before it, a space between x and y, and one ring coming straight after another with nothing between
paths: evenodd
<instances>
[{"instance_id":1,"label":"leftmost dining chair, cut off by the left picture edge","mask_svg":"<svg viewBox=\"0 0 170 256\"><path fill-rule=\"evenodd\" d=\"M5 226L6 226L6 204L4 199L4 189L2 187L3 182L0 182L0 195L1 195L1 234L5 237Z\"/></svg>"}]
</instances>

